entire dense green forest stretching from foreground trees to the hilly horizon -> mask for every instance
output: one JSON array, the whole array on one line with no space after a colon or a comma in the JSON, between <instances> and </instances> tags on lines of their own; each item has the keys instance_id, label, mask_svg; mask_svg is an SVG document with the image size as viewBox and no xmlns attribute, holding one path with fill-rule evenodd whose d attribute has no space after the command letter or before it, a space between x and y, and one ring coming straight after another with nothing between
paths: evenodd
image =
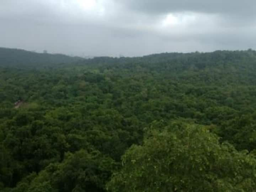
<instances>
[{"instance_id":1,"label":"entire dense green forest stretching from foreground trees to the hilly horizon","mask_svg":"<svg viewBox=\"0 0 256 192\"><path fill-rule=\"evenodd\" d=\"M256 51L0 49L1 192L255 189Z\"/></svg>"}]
</instances>

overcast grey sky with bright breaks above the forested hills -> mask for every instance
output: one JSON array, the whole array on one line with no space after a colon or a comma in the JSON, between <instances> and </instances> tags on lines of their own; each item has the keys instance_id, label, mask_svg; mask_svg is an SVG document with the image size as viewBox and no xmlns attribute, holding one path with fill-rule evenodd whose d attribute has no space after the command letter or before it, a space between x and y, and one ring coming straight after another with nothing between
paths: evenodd
<instances>
[{"instance_id":1,"label":"overcast grey sky with bright breaks above the forested hills","mask_svg":"<svg viewBox=\"0 0 256 192\"><path fill-rule=\"evenodd\" d=\"M90 56L256 49L256 1L0 0L0 47Z\"/></svg>"}]
</instances>

